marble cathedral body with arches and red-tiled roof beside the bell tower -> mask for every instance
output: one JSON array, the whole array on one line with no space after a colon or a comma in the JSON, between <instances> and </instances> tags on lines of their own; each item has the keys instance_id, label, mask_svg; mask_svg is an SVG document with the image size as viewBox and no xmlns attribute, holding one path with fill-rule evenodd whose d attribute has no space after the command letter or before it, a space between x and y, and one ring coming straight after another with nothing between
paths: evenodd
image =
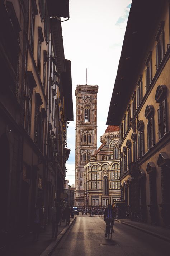
<instances>
[{"instance_id":1,"label":"marble cathedral body with arches and red-tiled roof beside the bell tower","mask_svg":"<svg viewBox=\"0 0 170 256\"><path fill-rule=\"evenodd\" d=\"M84 207L107 207L120 199L119 126L108 126L102 145L84 166Z\"/></svg>"}]
</instances>

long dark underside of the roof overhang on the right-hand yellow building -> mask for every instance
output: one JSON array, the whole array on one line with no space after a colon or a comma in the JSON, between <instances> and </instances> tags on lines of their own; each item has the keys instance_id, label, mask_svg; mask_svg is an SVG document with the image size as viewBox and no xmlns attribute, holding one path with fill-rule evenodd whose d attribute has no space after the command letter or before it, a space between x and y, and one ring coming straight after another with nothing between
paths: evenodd
<instances>
[{"instance_id":1,"label":"long dark underside of the roof overhang on the right-hand yellow building","mask_svg":"<svg viewBox=\"0 0 170 256\"><path fill-rule=\"evenodd\" d=\"M120 125L164 1L132 0L106 125ZM146 7L147 6L147 7ZM158 24L159 26L159 24Z\"/></svg>"}]
</instances>

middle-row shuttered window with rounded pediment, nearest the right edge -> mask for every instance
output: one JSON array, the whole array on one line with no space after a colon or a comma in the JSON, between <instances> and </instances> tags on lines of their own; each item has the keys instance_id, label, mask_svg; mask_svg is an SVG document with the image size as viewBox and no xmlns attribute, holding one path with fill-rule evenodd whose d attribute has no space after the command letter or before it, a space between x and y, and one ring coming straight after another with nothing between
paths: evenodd
<instances>
[{"instance_id":1,"label":"middle-row shuttered window with rounded pediment, nearest the right edge","mask_svg":"<svg viewBox=\"0 0 170 256\"><path fill-rule=\"evenodd\" d=\"M167 133L167 100L166 100L166 85L159 85L156 90L155 100L159 103L157 110L158 114L158 136L159 140Z\"/></svg>"}]
</instances>

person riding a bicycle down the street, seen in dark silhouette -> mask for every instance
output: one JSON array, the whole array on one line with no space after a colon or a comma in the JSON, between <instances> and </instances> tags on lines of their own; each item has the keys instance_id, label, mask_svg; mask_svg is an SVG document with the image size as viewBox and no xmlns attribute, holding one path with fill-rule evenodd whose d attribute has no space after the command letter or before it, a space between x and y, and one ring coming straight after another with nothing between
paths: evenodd
<instances>
[{"instance_id":1,"label":"person riding a bicycle down the street, seen in dark silhouette","mask_svg":"<svg viewBox=\"0 0 170 256\"><path fill-rule=\"evenodd\" d=\"M110 224L112 227L112 232L114 232L113 230L113 226L114 226L114 217L115 217L115 212L113 211L112 205L108 205L107 209L104 212L104 221L106 222L106 233L105 233L105 237L107 237L109 230L110 230Z\"/></svg>"}]
</instances>

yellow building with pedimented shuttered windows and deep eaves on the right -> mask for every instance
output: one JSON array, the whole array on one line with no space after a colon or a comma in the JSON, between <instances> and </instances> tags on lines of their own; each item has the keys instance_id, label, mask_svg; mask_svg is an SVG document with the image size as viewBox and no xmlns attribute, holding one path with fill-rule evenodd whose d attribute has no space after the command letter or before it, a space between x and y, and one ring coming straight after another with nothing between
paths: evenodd
<instances>
[{"instance_id":1,"label":"yellow building with pedimented shuttered windows and deep eaves on the right","mask_svg":"<svg viewBox=\"0 0 170 256\"><path fill-rule=\"evenodd\" d=\"M107 119L107 124L120 125L122 201L130 206L132 219L140 214L143 221L166 226L170 226L169 21L169 1L144 1L143 7L132 1Z\"/></svg>"}]
</instances>

